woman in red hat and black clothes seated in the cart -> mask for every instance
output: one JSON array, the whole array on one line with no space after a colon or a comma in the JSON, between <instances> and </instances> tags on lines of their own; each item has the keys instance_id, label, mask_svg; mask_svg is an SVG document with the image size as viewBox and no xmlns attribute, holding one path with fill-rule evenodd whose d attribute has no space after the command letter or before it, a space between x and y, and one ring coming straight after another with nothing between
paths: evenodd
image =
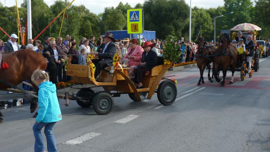
<instances>
[{"instance_id":1,"label":"woman in red hat and black clothes seated in the cart","mask_svg":"<svg viewBox=\"0 0 270 152\"><path fill-rule=\"evenodd\" d=\"M141 64L138 65L137 69L134 70L135 79L134 82L136 83L137 89L143 88L143 74L146 71L151 71L153 67L157 65L157 54L153 50L153 44L150 42L145 42L143 49L145 50L143 52Z\"/></svg>"}]
</instances>

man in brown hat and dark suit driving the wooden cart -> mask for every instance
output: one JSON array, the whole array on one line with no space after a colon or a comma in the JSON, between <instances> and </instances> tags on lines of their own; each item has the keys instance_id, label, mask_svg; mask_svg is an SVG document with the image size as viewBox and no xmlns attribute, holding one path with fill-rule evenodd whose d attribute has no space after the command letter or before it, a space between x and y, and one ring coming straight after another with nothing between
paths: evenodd
<instances>
[{"instance_id":1,"label":"man in brown hat and dark suit driving the wooden cart","mask_svg":"<svg viewBox=\"0 0 270 152\"><path fill-rule=\"evenodd\" d=\"M104 43L102 50L100 52L95 52L94 54L98 56L101 61L96 63L96 70L95 70L95 79L98 80L97 76L100 74L100 71L108 66L113 66L113 56L116 52L116 47L113 43L115 39L113 38L112 33L106 33L104 36Z\"/></svg>"}]
</instances>

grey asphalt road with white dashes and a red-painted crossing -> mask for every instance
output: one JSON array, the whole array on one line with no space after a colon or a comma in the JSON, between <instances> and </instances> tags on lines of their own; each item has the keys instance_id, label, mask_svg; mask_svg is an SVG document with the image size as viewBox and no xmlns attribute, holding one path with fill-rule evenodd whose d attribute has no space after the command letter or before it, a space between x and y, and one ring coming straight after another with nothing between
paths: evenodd
<instances>
[{"instance_id":1,"label":"grey asphalt road with white dashes and a red-painted crossing","mask_svg":"<svg viewBox=\"0 0 270 152\"><path fill-rule=\"evenodd\" d=\"M113 98L112 112L103 116L76 102L60 105L63 119L53 130L58 151L270 151L269 64L262 58L258 72L244 81L235 73L232 85L229 75L225 87L210 83L206 72L205 84L197 86L197 67L168 72L178 81L170 106L159 104L156 95L148 102ZM33 151L29 105L1 112L0 151Z\"/></svg>"}]
</instances>

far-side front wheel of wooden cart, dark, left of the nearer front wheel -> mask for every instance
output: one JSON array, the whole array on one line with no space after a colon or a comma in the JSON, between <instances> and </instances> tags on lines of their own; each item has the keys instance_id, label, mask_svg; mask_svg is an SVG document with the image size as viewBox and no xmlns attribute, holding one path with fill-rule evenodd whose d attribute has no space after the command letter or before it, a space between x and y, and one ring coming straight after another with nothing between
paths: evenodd
<instances>
[{"instance_id":1,"label":"far-side front wheel of wooden cart, dark, left of the nearer front wheel","mask_svg":"<svg viewBox=\"0 0 270 152\"><path fill-rule=\"evenodd\" d=\"M82 98L82 100L76 99L76 102L79 106L87 108L92 105L93 98L95 96L95 92L91 89L79 89L76 94L76 97ZM92 98L91 98L92 97Z\"/></svg>"}]
</instances>

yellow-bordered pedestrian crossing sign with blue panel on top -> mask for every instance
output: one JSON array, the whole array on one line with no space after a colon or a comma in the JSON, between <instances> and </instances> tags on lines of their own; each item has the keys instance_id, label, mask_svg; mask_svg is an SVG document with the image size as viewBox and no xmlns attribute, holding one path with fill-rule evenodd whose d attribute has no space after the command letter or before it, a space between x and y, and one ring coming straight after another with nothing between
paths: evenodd
<instances>
[{"instance_id":1,"label":"yellow-bordered pedestrian crossing sign with blue panel on top","mask_svg":"<svg viewBox=\"0 0 270 152\"><path fill-rule=\"evenodd\" d=\"M143 9L127 10L127 33L143 33Z\"/></svg>"}]
</instances>

